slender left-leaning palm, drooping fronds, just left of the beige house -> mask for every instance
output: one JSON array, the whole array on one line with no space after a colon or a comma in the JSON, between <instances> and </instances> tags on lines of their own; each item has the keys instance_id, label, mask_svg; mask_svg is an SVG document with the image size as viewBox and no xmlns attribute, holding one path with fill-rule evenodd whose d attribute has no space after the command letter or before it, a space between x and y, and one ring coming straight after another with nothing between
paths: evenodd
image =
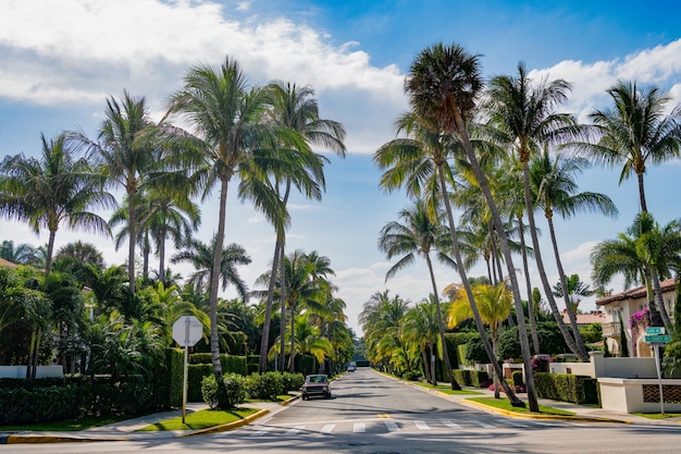
<instances>
[{"instance_id":1,"label":"slender left-leaning palm, drooping fronds, just left of the beige house","mask_svg":"<svg viewBox=\"0 0 681 454\"><path fill-rule=\"evenodd\" d=\"M535 158L530 165L530 185L536 197L536 207L543 208L548 222L548 232L550 233L561 289L568 289L568 285L565 281L566 274L558 251L554 212L558 212L562 218L585 211L597 211L611 218L618 214L617 207L608 196L599 193L577 192L575 175L582 173L587 167L589 161L583 158L561 158L559 155L552 162L546 150ZM570 298L567 293L564 293L562 296L565 297L574 342L581 349L585 351Z\"/></svg>"}]
</instances>

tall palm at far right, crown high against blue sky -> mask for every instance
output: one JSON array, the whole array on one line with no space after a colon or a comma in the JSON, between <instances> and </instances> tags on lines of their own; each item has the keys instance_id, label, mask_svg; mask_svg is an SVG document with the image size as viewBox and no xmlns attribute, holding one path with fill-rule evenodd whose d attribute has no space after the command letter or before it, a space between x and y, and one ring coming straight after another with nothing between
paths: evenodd
<instances>
[{"instance_id":1,"label":"tall palm at far right, crown high against blue sky","mask_svg":"<svg viewBox=\"0 0 681 454\"><path fill-rule=\"evenodd\" d=\"M596 162L622 165L620 184L634 173L641 211L647 211L643 186L646 163L663 163L679 157L681 106L665 114L672 97L661 95L658 87L642 91L635 82L618 81L607 93L612 98L612 108L595 110L589 115L593 122L590 130L597 142L573 145Z\"/></svg>"}]
</instances>

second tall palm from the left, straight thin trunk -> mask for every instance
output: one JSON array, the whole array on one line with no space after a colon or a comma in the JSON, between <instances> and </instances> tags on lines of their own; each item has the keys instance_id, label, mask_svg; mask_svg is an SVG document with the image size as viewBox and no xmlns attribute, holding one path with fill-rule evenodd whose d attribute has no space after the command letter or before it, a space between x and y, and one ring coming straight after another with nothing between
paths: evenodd
<instances>
[{"instance_id":1,"label":"second tall palm from the left, straight thin trunk","mask_svg":"<svg viewBox=\"0 0 681 454\"><path fill-rule=\"evenodd\" d=\"M110 186L124 188L128 213L127 277L131 295L135 294L135 249L137 238L137 201L140 191L149 183L151 172L159 165L157 148L148 140L139 140L153 124L144 97L135 97L126 90L120 102L107 99L104 120L99 127L97 142L85 134L75 138L90 149L90 156L104 171Z\"/></svg>"}]
</instances>

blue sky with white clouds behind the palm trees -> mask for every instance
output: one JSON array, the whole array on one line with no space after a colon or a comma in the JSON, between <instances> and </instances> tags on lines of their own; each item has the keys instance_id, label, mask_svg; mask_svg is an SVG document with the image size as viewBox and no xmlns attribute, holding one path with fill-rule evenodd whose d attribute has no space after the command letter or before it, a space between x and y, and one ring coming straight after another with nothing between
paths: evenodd
<instances>
[{"instance_id":1,"label":"blue sky with white clouds behind the palm trees","mask_svg":"<svg viewBox=\"0 0 681 454\"><path fill-rule=\"evenodd\" d=\"M326 191L321 201L294 196L287 251L317 250L335 270L332 282L346 303L348 324L361 334L358 315L376 292L389 290L412 303L432 292L424 262L387 282L393 263L377 248L381 229L409 205L379 187L372 154L396 137L395 119L407 100L404 78L414 57L437 42L458 44L479 54L483 76L516 74L524 62L540 81L572 84L566 112L580 120L608 106L606 89L618 79L655 85L681 102L681 4L677 1L315 1L315 0L0 0L0 158L38 157L40 134L82 130L97 136L106 100L124 90L144 96L159 120L168 97L196 64L219 66L228 56L250 86L272 81L309 85L320 115L343 123L347 156L326 154ZM671 108L671 103L670 103ZM649 165L645 175L649 211L658 222L680 217L680 162ZM568 274L591 283L594 245L614 238L637 210L634 179L619 184L619 169L593 168L579 181L582 192L608 195L619 217L580 214L556 219ZM235 186L232 186L235 187ZM202 204L197 237L208 243L218 226L218 193ZM103 214L103 213L102 213ZM558 281L543 217L543 256L548 280ZM25 224L0 219L0 240L47 243ZM123 263L126 248L65 226L57 249L73 241L95 244L108 265ZM234 195L227 201L226 242L252 259L239 269L250 289L271 265L274 232L263 217ZM172 253L172 250L171 250ZM517 258L516 268L520 268ZM186 265L171 266L188 275ZM438 290L459 282L451 269L436 269ZM476 267L469 275L482 275ZM538 274L531 271L533 286ZM519 273L519 280L524 282ZM609 286L622 291L621 280ZM524 290L521 294L525 294ZM232 297L228 290L223 296ZM581 305L595 308L594 299Z\"/></svg>"}]
</instances>

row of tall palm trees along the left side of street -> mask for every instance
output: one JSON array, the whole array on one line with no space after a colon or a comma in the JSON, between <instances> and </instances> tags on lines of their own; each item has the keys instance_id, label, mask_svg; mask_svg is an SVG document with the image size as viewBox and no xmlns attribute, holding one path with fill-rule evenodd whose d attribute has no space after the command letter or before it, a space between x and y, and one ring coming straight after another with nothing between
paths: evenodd
<instances>
[{"instance_id":1,"label":"row of tall palm trees along the left side of street","mask_svg":"<svg viewBox=\"0 0 681 454\"><path fill-rule=\"evenodd\" d=\"M225 271L223 254L235 253L237 258L240 253L237 245L225 248L226 199L231 183L238 182L239 198L250 200L264 213L277 238L260 349L260 370L264 371L274 302L294 305L297 298L286 294L286 280L290 279L285 255L285 232L290 222L286 204L292 186L308 198L321 198L325 187L323 167L329 159L313 151L312 146L344 156L345 131L339 123L320 118L312 88L284 82L249 86L240 66L230 57L219 68L199 64L189 69L183 82L183 88L170 96L168 112L159 122L150 118L144 97L124 91L120 100L107 99L96 138L82 131L65 132L49 142L42 137L41 159L23 154L7 158L0 180L0 212L11 220L28 222L36 232L49 232L47 274L60 226L111 235L112 228L121 225L114 240L116 246L127 241L131 295L137 291L137 247L143 250L143 274L147 278L148 257L156 246L162 283L168 279L168 240L176 247L188 244L197 253L208 248L212 263L201 279L208 282L211 357L214 373L220 377L220 281L223 287L231 281L224 277L230 268ZM203 246L191 238L200 223L194 198L205 200L215 187L219 223L210 246ZM125 193L120 206L108 192L112 188ZM96 213L97 209L116 207L109 222ZM174 257L175 261L186 259L193 260ZM330 267L327 259L325 267L324 258L317 259L319 268L308 279L319 284ZM244 296L246 289L238 290ZM336 299L331 285L323 296L329 302ZM285 320L286 304L281 307ZM295 314L290 310L292 340ZM282 331L282 342L284 334ZM284 351L282 347L282 355Z\"/></svg>"}]
</instances>

